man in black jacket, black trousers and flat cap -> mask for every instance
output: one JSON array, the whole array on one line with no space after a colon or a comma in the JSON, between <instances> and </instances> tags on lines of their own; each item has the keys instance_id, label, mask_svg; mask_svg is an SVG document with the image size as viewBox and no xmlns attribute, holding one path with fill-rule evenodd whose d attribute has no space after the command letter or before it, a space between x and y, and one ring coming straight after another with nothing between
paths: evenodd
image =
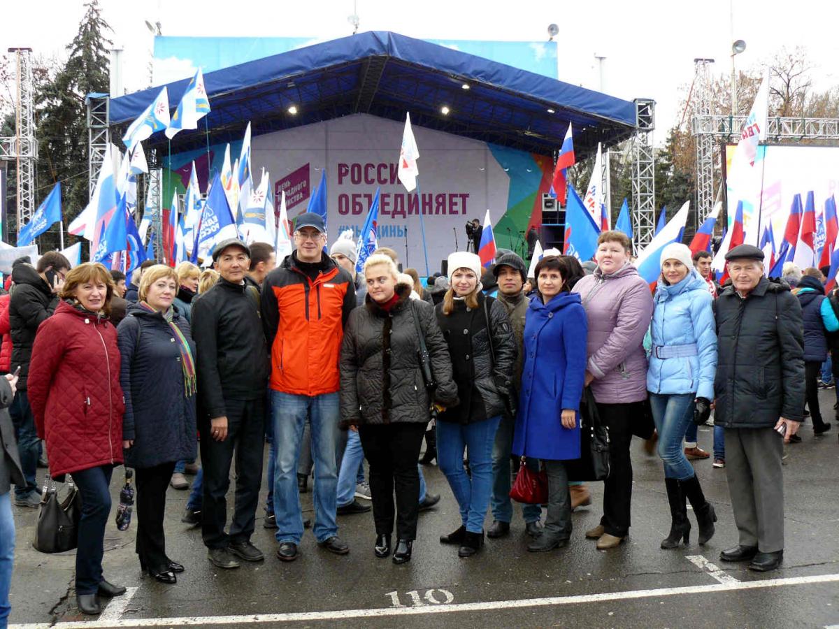
<instances>
[{"instance_id":1,"label":"man in black jacket, black trousers and flat cap","mask_svg":"<svg viewBox=\"0 0 839 629\"><path fill-rule=\"evenodd\" d=\"M262 482L270 367L259 294L245 283L250 250L230 238L216 245L212 257L221 278L193 302L191 320L204 467L201 536L212 564L238 568L236 557L264 559L250 538ZM234 454L236 506L228 535L225 496Z\"/></svg>"}]
</instances>

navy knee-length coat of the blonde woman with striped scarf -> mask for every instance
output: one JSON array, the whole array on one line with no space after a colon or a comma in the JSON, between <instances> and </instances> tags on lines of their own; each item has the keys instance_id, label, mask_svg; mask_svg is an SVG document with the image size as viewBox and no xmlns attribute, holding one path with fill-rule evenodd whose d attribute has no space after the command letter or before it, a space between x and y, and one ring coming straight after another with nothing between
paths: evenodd
<instances>
[{"instance_id":1,"label":"navy knee-length coat of the blonde woman with striped scarf","mask_svg":"<svg viewBox=\"0 0 839 629\"><path fill-rule=\"evenodd\" d=\"M195 357L190 324L177 310L172 320ZM128 315L117 326L119 382L125 398L122 439L134 440L125 450L128 467L195 459L195 396L184 396L184 372L174 338L163 314L138 304L128 306Z\"/></svg>"}]
</instances>

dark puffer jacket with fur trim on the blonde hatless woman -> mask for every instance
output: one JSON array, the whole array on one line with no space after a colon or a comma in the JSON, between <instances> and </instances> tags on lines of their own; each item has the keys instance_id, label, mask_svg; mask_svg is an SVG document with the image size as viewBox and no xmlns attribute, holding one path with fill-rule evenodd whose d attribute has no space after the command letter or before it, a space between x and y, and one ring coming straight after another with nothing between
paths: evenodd
<instances>
[{"instance_id":1,"label":"dark puffer jacket with fur trim on the blonde hatless woman","mask_svg":"<svg viewBox=\"0 0 839 629\"><path fill-rule=\"evenodd\" d=\"M358 424L422 423L430 420L431 400L420 369L420 340L413 314L420 321L431 372L437 382L435 401L454 406L457 390L451 377L446 341L434 309L410 299L411 289L396 287L399 301L389 312L367 296L352 310L341 344L341 421Z\"/></svg>"}]
</instances>

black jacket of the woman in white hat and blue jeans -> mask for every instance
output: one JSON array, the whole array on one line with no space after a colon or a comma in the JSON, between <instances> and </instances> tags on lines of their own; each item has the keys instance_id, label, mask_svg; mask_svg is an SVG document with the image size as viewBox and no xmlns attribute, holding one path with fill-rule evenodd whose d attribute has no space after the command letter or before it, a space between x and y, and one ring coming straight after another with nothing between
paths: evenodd
<instances>
[{"instance_id":1,"label":"black jacket of the woman in white hat and blue jeans","mask_svg":"<svg viewBox=\"0 0 839 629\"><path fill-rule=\"evenodd\" d=\"M518 353L513 328L502 304L484 297L480 291L477 299L477 309L467 308L463 299L455 299L451 314L443 314L443 304L435 308L437 323L449 346L457 397L461 401L456 407L440 413L440 421L472 424L511 410L513 364ZM494 360L490 355L485 300L488 302Z\"/></svg>"}]
</instances>

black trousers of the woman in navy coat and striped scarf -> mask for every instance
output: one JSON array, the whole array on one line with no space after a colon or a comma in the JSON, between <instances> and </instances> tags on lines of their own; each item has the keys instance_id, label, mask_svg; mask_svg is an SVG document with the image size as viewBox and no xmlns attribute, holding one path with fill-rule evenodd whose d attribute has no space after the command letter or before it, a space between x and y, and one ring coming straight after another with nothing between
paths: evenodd
<instances>
[{"instance_id":1,"label":"black trousers of the woman in navy coat and striped scarf","mask_svg":"<svg viewBox=\"0 0 839 629\"><path fill-rule=\"evenodd\" d=\"M166 508L166 489L175 470L175 461L154 467L138 467L137 478L137 546L140 565L150 574L169 569L163 517Z\"/></svg>"}]
</instances>

